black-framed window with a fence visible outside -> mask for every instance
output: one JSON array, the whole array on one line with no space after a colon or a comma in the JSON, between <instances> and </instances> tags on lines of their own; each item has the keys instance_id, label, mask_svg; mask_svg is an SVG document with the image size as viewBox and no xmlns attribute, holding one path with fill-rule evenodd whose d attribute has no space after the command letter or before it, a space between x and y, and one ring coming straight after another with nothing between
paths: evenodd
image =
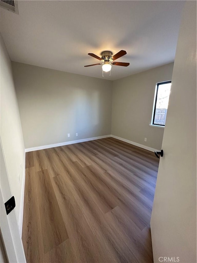
<instances>
[{"instance_id":1,"label":"black-framed window with a fence visible outside","mask_svg":"<svg viewBox=\"0 0 197 263\"><path fill-rule=\"evenodd\" d=\"M165 126L171 81L157 83L153 105L152 125Z\"/></svg>"}]
</instances>

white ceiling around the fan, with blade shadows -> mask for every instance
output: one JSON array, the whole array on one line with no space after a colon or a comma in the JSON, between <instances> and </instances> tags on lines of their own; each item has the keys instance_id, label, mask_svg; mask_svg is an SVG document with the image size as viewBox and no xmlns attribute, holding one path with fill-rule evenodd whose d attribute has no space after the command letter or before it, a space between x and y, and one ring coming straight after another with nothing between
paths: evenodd
<instances>
[{"instance_id":1,"label":"white ceiling around the fan, with blade shadows","mask_svg":"<svg viewBox=\"0 0 197 263\"><path fill-rule=\"evenodd\" d=\"M127 55L112 66L116 80L174 61L184 1L18 1L19 14L1 8L1 34L10 59L102 78L87 55Z\"/></svg>"}]
</instances>

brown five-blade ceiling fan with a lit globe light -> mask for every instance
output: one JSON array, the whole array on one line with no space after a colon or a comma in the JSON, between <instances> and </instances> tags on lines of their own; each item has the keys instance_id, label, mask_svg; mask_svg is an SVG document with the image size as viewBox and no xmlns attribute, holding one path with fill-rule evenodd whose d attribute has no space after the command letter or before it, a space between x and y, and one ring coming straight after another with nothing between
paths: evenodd
<instances>
[{"instance_id":1,"label":"brown five-blade ceiling fan with a lit globe light","mask_svg":"<svg viewBox=\"0 0 197 263\"><path fill-rule=\"evenodd\" d=\"M120 58L120 57L122 57L122 56L124 56L126 54L127 54L127 52L125 50L121 50L118 53L116 53L115 55L113 55L111 51L103 51L103 52L101 52L101 58L100 58L100 57L98 57L97 55L95 55L93 53L88 53L88 55L90 55L90 56L92 56L92 57L94 57L94 58L96 58L98 60L101 60L102 63L87 65L87 66L84 66L84 67L103 65L102 69L103 69L104 72L109 72L109 71L111 72L111 65L123 66L123 67L129 66L130 63L114 62L114 60L117 60L118 58Z\"/></svg>"}]
</instances>

